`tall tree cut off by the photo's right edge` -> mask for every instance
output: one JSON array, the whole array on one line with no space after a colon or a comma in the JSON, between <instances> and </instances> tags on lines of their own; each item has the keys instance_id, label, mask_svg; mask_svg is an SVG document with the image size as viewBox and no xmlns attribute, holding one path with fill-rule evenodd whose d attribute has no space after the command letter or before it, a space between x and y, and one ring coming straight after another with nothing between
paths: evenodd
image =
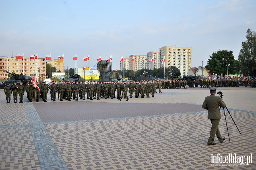
<instances>
[{"instance_id":1,"label":"tall tree cut off by the photo's right edge","mask_svg":"<svg viewBox=\"0 0 256 170\"><path fill-rule=\"evenodd\" d=\"M242 49L238 55L241 74L256 75L256 33L248 29L246 32L246 41L242 42Z\"/></svg>"}]
</instances>

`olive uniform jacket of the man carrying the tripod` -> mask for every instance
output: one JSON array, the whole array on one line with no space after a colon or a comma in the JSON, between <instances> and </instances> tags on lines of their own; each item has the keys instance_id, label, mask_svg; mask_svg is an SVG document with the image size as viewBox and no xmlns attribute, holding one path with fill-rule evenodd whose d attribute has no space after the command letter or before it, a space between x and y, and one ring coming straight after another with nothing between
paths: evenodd
<instances>
[{"instance_id":1,"label":"olive uniform jacket of the man carrying the tripod","mask_svg":"<svg viewBox=\"0 0 256 170\"><path fill-rule=\"evenodd\" d=\"M226 104L221 100L219 96L211 94L205 97L205 101L202 107L208 110L208 119L220 119L220 106L225 107Z\"/></svg>"}]
</instances>

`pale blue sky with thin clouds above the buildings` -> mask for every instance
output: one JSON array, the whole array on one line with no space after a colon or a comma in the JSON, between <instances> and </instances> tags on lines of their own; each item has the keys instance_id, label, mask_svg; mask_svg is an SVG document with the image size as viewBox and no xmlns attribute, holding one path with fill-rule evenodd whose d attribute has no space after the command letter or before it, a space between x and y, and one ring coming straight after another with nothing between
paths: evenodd
<instances>
[{"instance_id":1,"label":"pale blue sky with thin clouds above the buildings","mask_svg":"<svg viewBox=\"0 0 256 170\"><path fill-rule=\"evenodd\" d=\"M213 52L238 58L246 31L256 31L254 0L0 0L0 56L57 58L65 69L92 67L99 56L146 55L163 46L192 47L192 66ZM205 66L207 62L203 63Z\"/></svg>"}]
</instances>

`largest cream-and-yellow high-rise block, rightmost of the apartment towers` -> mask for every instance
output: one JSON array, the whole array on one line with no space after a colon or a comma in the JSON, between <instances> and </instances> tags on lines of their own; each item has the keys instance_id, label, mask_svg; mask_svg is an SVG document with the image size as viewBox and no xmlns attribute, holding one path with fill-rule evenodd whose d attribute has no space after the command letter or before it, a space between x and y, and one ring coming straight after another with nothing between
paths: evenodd
<instances>
[{"instance_id":1,"label":"largest cream-and-yellow high-rise block, rightmost of the apartment towers","mask_svg":"<svg viewBox=\"0 0 256 170\"><path fill-rule=\"evenodd\" d=\"M164 67L175 66L180 70L181 76L187 75L192 67L192 47L164 46L159 48L160 62L165 59Z\"/></svg>"}]
</instances>

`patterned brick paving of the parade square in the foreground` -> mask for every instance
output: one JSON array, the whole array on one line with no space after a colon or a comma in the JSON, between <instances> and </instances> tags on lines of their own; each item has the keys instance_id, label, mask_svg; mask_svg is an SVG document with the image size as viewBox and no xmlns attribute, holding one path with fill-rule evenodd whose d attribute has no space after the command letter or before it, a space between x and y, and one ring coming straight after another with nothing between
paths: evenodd
<instances>
[{"instance_id":1,"label":"patterned brick paving of the parade square in the foreground","mask_svg":"<svg viewBox=\"0 0 256 170\"><path fill-rule=\"evenodd\" d=\"M256 169L256 88L218 90L241 134L225 111L229 143L222 111L226 141L208 146L210 120L201 108L208 89L162 89L155 98L121 102L10 104L1 89L0 169ZM211 163L218 153L252 154L253 163Z\"/></svg>"}]
</instances>

